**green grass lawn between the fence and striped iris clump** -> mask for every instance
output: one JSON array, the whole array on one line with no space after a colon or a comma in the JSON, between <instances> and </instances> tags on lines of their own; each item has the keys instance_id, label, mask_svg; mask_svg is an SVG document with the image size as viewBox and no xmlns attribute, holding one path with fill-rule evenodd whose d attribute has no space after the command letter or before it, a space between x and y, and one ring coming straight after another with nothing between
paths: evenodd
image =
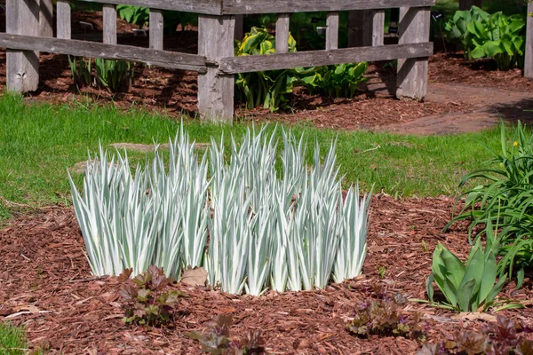
<instances>
[{"instance_id":1,"label":"green grass lawn between the fence and striped iris clump","mask_svg":"<svg viewBox=\"0 0 533 355\"><path fill-rule=\"evenodd\" d=\"M12 216L20 205L42 207L70 204L68 168L97 151L99 142L165 142L180 122L140 110L127 112L112 107L27 104L16 96L0 98L0 218ZM222 132L240 136L249 127L217 125L187 119L187 130L197 142L219 138ZM274 125L270 127L274 129ZM362 189L399 196L454 195L467 171L489 159L483 145L497 149L499 130L457 136L404 137L363 131L318 130L293 126L306 134L308 154L318 139L326 152L338 138L340 172L346 185L359 181ZM512 134L512 133L510 133ZM113 149L113 148L110 148ZM132 162L144 162L146 154L130 153ZM77 176L81 182L81 176Z\"/></svg>"}]
</instances>

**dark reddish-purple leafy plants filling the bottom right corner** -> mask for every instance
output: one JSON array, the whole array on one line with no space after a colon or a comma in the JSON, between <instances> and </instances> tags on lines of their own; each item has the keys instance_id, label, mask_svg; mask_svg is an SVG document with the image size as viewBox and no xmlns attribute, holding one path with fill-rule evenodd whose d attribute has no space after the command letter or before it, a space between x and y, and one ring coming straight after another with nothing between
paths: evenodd
<instances>
[{"instance_id":1,"label":"dark reddish-purple leafy plants filling the bottom right corner","mask_svg":"<svg viewBox=\"0 0 533 355\"><path fill-rule=\"evenodd\" d=\"M530 332L530 330L520 324L515 324L512 319L498 316L496 322L489 323L480 331L460 331L452 335L446 342L426 343L417 352L417 355L532 355L533 341L524 339L526 332Z\"/></svg>"}]
</instances>

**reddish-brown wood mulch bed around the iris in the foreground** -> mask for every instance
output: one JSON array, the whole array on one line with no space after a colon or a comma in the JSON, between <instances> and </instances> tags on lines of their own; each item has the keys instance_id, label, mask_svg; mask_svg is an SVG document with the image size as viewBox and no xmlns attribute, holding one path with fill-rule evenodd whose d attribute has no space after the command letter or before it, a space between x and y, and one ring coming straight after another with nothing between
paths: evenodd
<instances>
[{"instance_id":1,"label":"reddish-brown wood mulch bed around the iris in the foreground","mask_svg":"<svg viewBox=\"0 0 533 355\"><path fill-rule=\"evenodd\" d=\"M466 256L465 225L442 233L453 204L447 197L394 201L375 196L363 276L325 290L269 292L260 297L228 296L179 285L189 297L180 306L175 327L163 329L123 325L120 285L115 278L91 277L72 210L46 209L18 217L0 231L0 319L32 312L12 320L28 327L32 347L48 347L52 353L201 353L201 345L186 333L203 330L219 313L234 315L235 336L261 329L269 353L414 353L421 346L418 341L376 335L361 339L348 334L345 324L357 305L376 290L425 298L437 241L458 256ZM383 280L378 276L379 266L386 270ZM529 277L518 291L513 282L507 285L504 296L532 299ZM424 304L409 303L402 312L408 318L416 312L424 316L428 342L483 325L479 319L452 319L453 313ZM531 308L503 314L529 325L533 322Z\"/></svg>"}]
</instances>

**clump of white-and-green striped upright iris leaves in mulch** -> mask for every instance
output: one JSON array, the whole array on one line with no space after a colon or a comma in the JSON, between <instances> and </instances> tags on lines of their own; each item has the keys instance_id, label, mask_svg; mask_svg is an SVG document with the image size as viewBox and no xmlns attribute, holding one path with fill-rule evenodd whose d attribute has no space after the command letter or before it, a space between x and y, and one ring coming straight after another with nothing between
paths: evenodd
<instances>
[{"instance_id":1,"label":"clump of white-and-green striped upright iris leaves in mulch","mask_svg":"<svg viewBox=\"0 0 533 355\"><path fill-rule=\"evenodd\" d=\"M359 275L370 195L352 186L343 198L335 144L323 161L317 144L309 167L304 138L281 135L282 149L275 132L248 130L240 144L231 138L230 154L224 138L212 139L200 157L182 128L169 162L155 149L135 174L126 154L109 161L100 148L87 162L83 195L70 178L92 272L137 274L155 264L179 277L203 266L210 285L251 295Z\"/></svg>"}]
</instances>

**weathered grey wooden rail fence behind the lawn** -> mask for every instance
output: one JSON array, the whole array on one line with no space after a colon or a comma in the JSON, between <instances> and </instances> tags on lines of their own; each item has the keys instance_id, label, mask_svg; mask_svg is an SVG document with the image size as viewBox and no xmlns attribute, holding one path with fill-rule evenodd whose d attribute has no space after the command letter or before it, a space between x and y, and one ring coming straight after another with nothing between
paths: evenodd
<instances>
[{"instance_id":1,"label":"weathered grey wooden rail fence behind the lawn","mask_svg":"<svg viewBox=\"0 0 533 355\"><path fill-rule=\"evenodd\" d=\"M52 37L52 0L7 0L7 86L12 91L35 91L39 52L124 59L149 65L198 72L198 110L204 119L231 122L234 115L236 73L291 67L313 67L359 61L398 60L398 98L424 99L430 10L434 0L88 0L103 5L103 43L71 39L68 0L57 0L57 36ZM149 48L116 44L116 4L150 9ZM400 8L399 42L384 45L387 8ZM163 50L163 10L195 12L198 54ZM349 11L349 48L338 48L338 12ZM290 13L327 12L323 51L289 53ZM277 13L276 53L234 56L234 37L242 36L242 16Z\"/></svg>"}]
</instances>

